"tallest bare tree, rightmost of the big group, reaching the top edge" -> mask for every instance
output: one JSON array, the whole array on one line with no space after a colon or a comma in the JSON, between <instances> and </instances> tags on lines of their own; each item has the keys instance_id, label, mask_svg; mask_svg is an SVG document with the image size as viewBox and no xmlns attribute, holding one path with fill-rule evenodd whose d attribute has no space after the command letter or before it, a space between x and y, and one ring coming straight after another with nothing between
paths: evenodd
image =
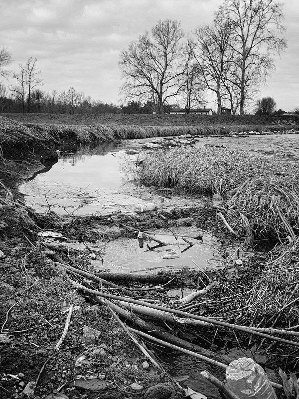
<instances>
[{"instance_id":1,"label":"tallest bare tree, rightmost of the big group, reaching the top edge","mask_svg":"<svg viewBox=\"0 0 299 399\"><path fill-rule=\"evenodd\" d=\"M247 77L257 68L260 77L274 68L272 54L286 48L282 3L276 0L224 0L218 12L231 28L233 62L239 70L240 114L244 114ZM257 73L256 73L257 76Z\"/></svg>"}]
</instances>

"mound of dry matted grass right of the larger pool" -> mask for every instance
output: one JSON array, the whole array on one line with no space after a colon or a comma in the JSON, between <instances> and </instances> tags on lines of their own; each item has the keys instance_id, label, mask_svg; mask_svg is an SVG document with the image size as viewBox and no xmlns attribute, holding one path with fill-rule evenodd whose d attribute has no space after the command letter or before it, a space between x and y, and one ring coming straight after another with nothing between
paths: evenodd
<instances>
[{"instance_id":1,"label":"mound of dry matted grass right of the larger pool","mask_svg":"<svg viewBox=\"0 0 299 399\"><path fill-rule=\"evenodd\" d=\"M242 212L255 238L285 241L299 232L299 166L230 149L203 147L150 154L139 171L142 183L187 194L224 197L225 216ZM242 232L242 228L241 228Z\"/></svg>"}]
</instances>

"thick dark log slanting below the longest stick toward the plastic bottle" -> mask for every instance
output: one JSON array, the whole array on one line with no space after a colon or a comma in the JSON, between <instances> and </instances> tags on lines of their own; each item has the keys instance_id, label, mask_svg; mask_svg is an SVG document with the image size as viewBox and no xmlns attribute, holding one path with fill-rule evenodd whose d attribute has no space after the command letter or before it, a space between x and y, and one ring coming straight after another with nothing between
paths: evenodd
<instances>
[{"instance_id":1,"label":"thick dark log slanting below the longest stick toward the plastic bottle","mask_svg":"<svg viewBox=\"0 0 299 399\"><path fill-rule=\"evenodd\" d=\"M103 299L98 296L94 296L93 299L95 299L99 303L101 303L103 301ZM136 314L134 314L132 311L129 312L128 310L121 308L120 306L108 301L107 299L105 300L105 303L108 304L110 306L110 308L113 309L119 316L122 316L125 319L130 320L137 327L139 327L143 330L146 330L148 332L151 332L153 335L162 339L163 341L167 341L171 344L180 346L184 349L188 349L190 351L200 353L201 355L204 355L208 358L217 360L219 362L225 362L225 363L231 362L231 359L229 359L227 356L216 354L212 351L209 351L208 349L204 349L204 348L200 347L199 345L193 345L190 342L187 342L181 338L178 338L175 335L172 335L169 332L164 331L161 327L154 325L150 321L145 321L145 320L141 319Z\"/></svg>"}]
</instances>

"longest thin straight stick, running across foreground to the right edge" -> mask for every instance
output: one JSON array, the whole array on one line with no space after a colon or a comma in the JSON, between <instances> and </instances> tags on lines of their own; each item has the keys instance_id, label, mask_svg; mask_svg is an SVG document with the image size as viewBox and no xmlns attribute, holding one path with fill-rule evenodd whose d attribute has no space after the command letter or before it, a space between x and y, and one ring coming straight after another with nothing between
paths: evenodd
<instances>
[{"instance_id":1,"label":"longest thin straight stick, running across foreground to the right edge","mask_svg":"<svg viewBox=\"0 0 299 399\"><path fill-rule=\"evenodd\" d=\"M208 323L216 324L218 326L222 326L222 327L227 327L227 328L243 331L243 332L245 332L247 334L257 335L259 337L267 338L267 339L272 340L272 341L277 341L277 342L281 342L283 344L288 344L288 345L293 345L293 346L299 347L299 342L289 341L289 340L285 340L283 338L274 337L272 335L263 334L263 333L260 333L258 331L254 331L254 330L248 329L247 327L239 326L239 325L236 325L236 324L225 323L223 321L210 319L210 318L204 317L204 316L193 315L192 313L186 313L186 312L182 312L180 310L166 308L164 306L154 305L154 304L147 303L147 302L142 302L142 301L139 301L137 299L121 297L119 295L112 295L112 294L108 294L108 293L104 293L104 292L100 292L100 291L96 291L96 290L91 290L91 289L85 287L84 285L76 283L75 281L71 281L71 280L70 280L70 283L76 289L81 290L83 292L86 292L87 294L98 295L98 296L103 297L103 298L115 299L116 301L127 301L129 303L134 303L136 305L142 305L142 306L146 306L146 307L149 307L149 308L162 310L164 312L173 313L173 314L176 314L176 315L182 316L182 317L188 317L190 319L205 321L205 322L208 322Z\"/></svg>"}]
</instances>

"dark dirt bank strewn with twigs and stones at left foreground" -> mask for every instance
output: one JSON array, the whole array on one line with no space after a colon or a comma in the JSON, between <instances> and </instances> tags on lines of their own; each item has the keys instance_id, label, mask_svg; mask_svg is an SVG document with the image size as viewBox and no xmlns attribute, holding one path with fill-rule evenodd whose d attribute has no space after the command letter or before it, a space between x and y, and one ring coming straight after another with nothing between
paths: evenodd
<instances>
[{"instance_id":1,"label":"dark dirt bank strewn with twigs and stones at left foreground","mask_svg":"<svg viewBox=\"0 0 299 399\"><path fill-rule=\"evenodd\" d=\"M35 226L17 187L57 155L25 131L0 134L0 398L27 398L24 387L36 381L35 399L181 398L167 376L143 368L144 355L106 307L87 303L30 244ZM76 310L55 350L70 304Z\"/></svg>"}]
</instances>

